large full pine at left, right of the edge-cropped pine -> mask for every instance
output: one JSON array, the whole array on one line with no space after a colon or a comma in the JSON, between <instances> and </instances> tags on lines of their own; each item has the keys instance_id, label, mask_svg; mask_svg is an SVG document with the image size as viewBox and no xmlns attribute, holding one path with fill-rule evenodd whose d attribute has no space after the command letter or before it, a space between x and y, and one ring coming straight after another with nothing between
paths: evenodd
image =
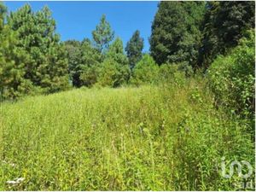
<instances>
[{"instance_id":1,"label":"large full pine at left, right of the edge-cropped pine","mask_svg":"<svg viewBox=\"0 0 256 192\"><path fill-rule=\"evenodd\" d=\"M18 34L18 46L29 55L25 78L47 92L67 87L66 52L55 33L55 20L49 9L44 7L33 13L31 6L26 4L11 13L8 24Z\"/></svg>"}]
</instances>

